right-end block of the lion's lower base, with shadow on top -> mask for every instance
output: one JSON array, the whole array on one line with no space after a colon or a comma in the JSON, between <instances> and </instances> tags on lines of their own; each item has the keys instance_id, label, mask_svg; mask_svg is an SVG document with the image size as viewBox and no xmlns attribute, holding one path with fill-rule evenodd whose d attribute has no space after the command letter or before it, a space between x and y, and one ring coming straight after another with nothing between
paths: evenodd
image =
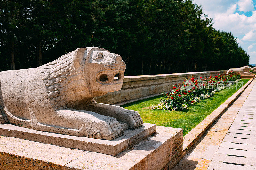
<instances>
[{"instance_id":1,"label":"right-end block of the lion's lower base, with shadow on top","mask_svg":"<svg viewBox=\"0 0 256 170\"><path fill-rule=\"evenodd\" d=\"M156 126L156 134L140 141L125 152L147 156L147 169L170 168L170 161L180 159L182 129ZM179 157L179 158L178 158Z\"/></svg>"}]
</instances>

